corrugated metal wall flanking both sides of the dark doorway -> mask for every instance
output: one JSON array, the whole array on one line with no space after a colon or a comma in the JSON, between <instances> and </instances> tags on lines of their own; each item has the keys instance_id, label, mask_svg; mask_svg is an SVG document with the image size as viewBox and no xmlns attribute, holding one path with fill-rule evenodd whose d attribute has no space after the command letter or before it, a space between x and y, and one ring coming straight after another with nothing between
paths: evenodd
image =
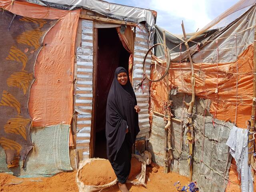
<instances>
[{"instance_id":1,"label":"corrugated metal wall flanking both sides of the dark doorway","mask_svg":"<svg viewBox=\"0 0 256 192\"><path fill-rule=\"evenodd\" d=\"M148 50L149 32L143 24L136 27L134 46L133 85L139 84L143 78L143 59ZM150 66L151 56L147 57L147 65ZM147 72L150 73L148 68ZM93 74L93 22L82 20L82 46L77 48L77 83L75 110L78 112L76 130L76 149L82 151L82 159L89 157L90 132L92 119L92 74ZM144 80L144 88L135 90L139 113L140 133L138 137L149 137L148 80Z\"/></svg>"}]
</instances>

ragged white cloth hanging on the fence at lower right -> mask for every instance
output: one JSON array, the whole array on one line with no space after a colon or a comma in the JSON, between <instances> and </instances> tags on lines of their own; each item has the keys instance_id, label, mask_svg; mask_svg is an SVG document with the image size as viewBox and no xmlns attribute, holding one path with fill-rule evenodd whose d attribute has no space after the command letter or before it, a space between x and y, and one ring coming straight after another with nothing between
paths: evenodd
<instances>
[{"instance_id":1,"label":"ragged white cloth hanging on the fence at lower right","mask_svg":"<svg viewBox=\"0 0 256 192\"><path fill-rule=\"evenodd\" d=\"M226 145L230 147L230 154L236 160L241 191L253 192L252 171L248 165L248 130L233 126Z\"/></svg>"}]
</instances>

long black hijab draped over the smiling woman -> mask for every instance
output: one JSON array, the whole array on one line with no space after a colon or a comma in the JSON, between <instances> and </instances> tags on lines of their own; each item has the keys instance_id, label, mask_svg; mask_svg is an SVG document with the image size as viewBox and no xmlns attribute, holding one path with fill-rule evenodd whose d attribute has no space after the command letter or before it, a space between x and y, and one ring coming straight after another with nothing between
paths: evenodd
<instances>
[{"instance_id":1,"label":"long black hijab draped over the smiling woman","mask_svg":"<svg viewBox=\"0 0 256 192\"><path fill-rule=\"evenodd\" d=\"M126 72L128 76L123 67L116 68L106 107L107 156L110 162L116 159L116 154L124 142L127 126L131 146L140 132L138 113L134 109L137 105L136 96L129 77L124 86L118 82L117 76L121 72Z\"/></svg>"}]
</instances>

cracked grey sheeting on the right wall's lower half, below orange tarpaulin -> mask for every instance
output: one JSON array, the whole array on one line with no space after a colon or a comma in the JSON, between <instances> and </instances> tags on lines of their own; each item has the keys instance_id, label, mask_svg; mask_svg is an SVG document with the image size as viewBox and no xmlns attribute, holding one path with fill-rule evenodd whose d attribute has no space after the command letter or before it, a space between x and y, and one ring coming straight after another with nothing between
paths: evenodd
<instances>
[{"instance_id":1,"label":"cracked grey sheeting on the right wall's lower half, below orange tarpaulin","mask_svg":"<svg viewBox=\"0 0 256 192\"><path fill-rule=\"evenodd\" d=\"M172 114L174 114L175 118L183 121L182 127L180 127L180 122L172 120L172 148L174 148L172 154L174 159L171 168L172 172L189 176L190 171L187 160L188 146L186 144L187 128L184 128L186 124L186 116L184 115L186 108L185 106L182 107L183 98L183 93L170 95L170 99L173 100ZM191 96L185 96L185 102L189 102L190 100ZM206 106L208 106L206 116L202 118ZM195 125L193 180L197 182L200 192L225 192L228 184L228 181L223 178L228 157L226 141L228 140L232 124L215 119L215 127L213 128L212 116L208 112L209 106L210 100L208 102L207 100L196 97L193 108L194 115L192 117ZM203 132L204 125L205 132ZM161 166L164 166L165 157L164 126L165 122L162 117L152 116L152 129L148 151L152 154L152 161ZM200 160L203 160L203 162ZM228 159L227 170L229 170L230 163L231 158ZM226 178L228 176L229 172L226 172Z\"/></svg>"}]
</instances>

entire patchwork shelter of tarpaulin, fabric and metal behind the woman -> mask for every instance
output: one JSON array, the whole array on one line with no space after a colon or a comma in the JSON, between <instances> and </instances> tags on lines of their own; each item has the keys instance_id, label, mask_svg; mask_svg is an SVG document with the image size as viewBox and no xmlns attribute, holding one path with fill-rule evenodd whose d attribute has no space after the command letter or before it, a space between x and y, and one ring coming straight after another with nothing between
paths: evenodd
<instances>
[{"instance_id":1,"label":"entire patchwork shelter of tarpaulin, fabric and metal behind the woman","mask_svg":"<svg viewBox=\"0 0 256 192\"><path fill-rule=\"evenodd\" d=\"M104 105L121 65L142 108L134 152L148 148L164 165L166 84L144 78L142 64L148 48L163 43L156 12L100 0L30 2L0 1L0 172L52 176L76 169L80 160L103 157ZM242 0L188 35L196 90L193 180L201 192L240 189L226 142L233 125L247 127L255 101L255 9L255 0ZM183 101L191 98L192 75L184 43L166 32L174 115L171 168L188 176ZM147 74L151 69L151 76L157 75L163 54L158 47L146 57Z\"/></svg>"}]
</instances>

